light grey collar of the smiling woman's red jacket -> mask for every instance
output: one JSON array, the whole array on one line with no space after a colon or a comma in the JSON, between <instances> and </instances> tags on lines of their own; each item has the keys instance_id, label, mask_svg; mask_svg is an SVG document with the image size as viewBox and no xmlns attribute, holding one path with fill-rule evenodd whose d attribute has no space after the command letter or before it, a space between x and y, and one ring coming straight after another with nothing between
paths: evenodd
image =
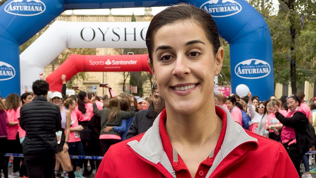
<instances>
[{"instance_id":1,"label":"light grey collar of the smiling woman's red jacket","mask_svg":"<svg viewBox=\"0 0 316 178\"><path fill-rule=\"evenodd\" d=\"M206 177L209 177L215 168L222 162L222 160L236 147L247 143L252 145L252 151L258 148L258 140L256 138L250 137L240 126L240 124L235 123L229 111L224 109L222 106L216 105L216 107L217 109L222 109L225 111L227 117L227 128L225 131L222 147L216 155L213 165L211 166ZM147 130L139 142L137 140L133 140L127 144L131 147L131 149L133 149L137 154L146 160L153 162L154 164L161 163L173 177L176 177L175 171L173 170L173 167L167 157L166 152L163 149L161 142L159 133L159 119L161 114L166 114L166 112L163 111L157 116L153 126ZM236 156L235 158L237 159L238 156L242 157L244 154L235 154L234 156Z\"/></svg>"}]
</instances>

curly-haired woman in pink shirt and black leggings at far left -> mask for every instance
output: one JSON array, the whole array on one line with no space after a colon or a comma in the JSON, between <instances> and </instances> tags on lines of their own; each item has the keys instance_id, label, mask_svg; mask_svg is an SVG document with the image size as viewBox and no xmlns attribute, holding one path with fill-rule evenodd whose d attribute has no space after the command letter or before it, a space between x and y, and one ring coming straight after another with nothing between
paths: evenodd
<instances>
[{"instance_id":1,"label":"curly-haired woman in pink shirt and black leggings at far left","mask_svg":"<svg viewBox=\"0 0 316 178\"><path fill-rule=\"evenodd\" d=\"M12 93L9 94L5 100L5 105L7 108L7 132L8 132L8 144L7 153L22 153L22 145L19 140L19 120L16 118L16 110L20 107L20 97L19 95ZM7 157L7 162L9 162L9 157ZM21 158L15 157L13 160L13 176L19 176L18 171L20 170Z\"/></svg>"}]
</instances>

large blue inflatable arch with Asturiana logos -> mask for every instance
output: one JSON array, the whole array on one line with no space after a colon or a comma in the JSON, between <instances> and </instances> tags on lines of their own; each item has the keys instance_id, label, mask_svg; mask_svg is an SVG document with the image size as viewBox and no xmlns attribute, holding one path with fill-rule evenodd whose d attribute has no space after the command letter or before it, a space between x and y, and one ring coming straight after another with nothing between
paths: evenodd
<instances>
[{"instance_id":1,"label":"large blue inflatable arch with Asturiana logos","mask_svg":"<svg viewBox=\"0 0 316 178\"><path fill-rule=\"evenodd\" d=\"M0 94L20 93L19 46L65 10L155 7L174 0L8 0L0 6ZM249 86L261 100L274 93L272 41L267 23L245 0L189 0L207 10L230 44L232 92ZM49 43L49 41L47 41ZM34 54L36 55L36 54Z\"/></svg>"}]
</instances>

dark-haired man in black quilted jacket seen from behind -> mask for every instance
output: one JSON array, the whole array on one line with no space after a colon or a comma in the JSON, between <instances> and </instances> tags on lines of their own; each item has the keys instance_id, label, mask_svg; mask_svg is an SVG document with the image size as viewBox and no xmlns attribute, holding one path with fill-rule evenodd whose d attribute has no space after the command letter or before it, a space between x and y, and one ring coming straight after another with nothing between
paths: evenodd
<instances>
[{"instance_id":1,"label":"dark-haired man in black quilted jacket seen from behind","mask_svg":"<svg viewBox=\"0 0 316 178\"><path fill-rule=\"evenodd\" d=\"M56 162L56 130L61 127L60 110L46 99L49 90L46 81L36 80L32 88L36 97L20 111L20 125L26 131L22 147L27 175L29 178L52 178Z\"/></svg>"}]
</instances>

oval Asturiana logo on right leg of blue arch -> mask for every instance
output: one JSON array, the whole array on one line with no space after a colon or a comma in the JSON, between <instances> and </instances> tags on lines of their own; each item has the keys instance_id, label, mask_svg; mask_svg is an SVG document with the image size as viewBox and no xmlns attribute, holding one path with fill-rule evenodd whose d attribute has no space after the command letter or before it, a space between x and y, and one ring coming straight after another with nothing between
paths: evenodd
<instances>
[{"instance_id":1,"label":"oval Asturiana logo on right leg of blue arch","mask_svg":"<svg viewBox=\"0 0 316 178\"><path fill-rule=\"evenodd\" d=\"M269 75L270 64L264 60L248 59L238 63L235 67L235 74L243 79L260 79Z\"/></svg>"}]
</instances>

